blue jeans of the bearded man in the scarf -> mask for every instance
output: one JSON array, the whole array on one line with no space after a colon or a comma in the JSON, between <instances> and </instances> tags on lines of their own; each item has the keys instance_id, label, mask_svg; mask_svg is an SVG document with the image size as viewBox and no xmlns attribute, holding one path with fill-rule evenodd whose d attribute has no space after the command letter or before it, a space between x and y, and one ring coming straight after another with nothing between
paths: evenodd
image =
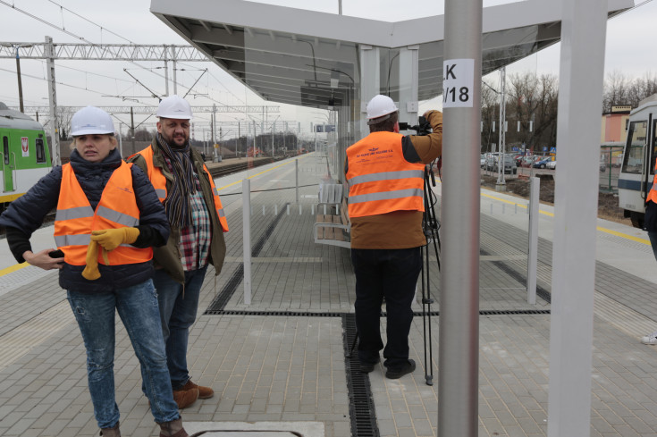
<instances>
[{"instance_id":1,"label":"blue jeans of the bearded man in the scarf","mask_svg":"<svg viewBox=\"0 0 657 437\"><path fill-rule=\"evenodd\" d=\"M166 365L169 366L173 390L180 390L190 381L187 369L187 344L190 326L196 321L198 296L206 277L207 265L185 272L184 286L173 281L164 270L153 277L160 306L162 333L166 345Z\"/></svg>"}]
</instances>

